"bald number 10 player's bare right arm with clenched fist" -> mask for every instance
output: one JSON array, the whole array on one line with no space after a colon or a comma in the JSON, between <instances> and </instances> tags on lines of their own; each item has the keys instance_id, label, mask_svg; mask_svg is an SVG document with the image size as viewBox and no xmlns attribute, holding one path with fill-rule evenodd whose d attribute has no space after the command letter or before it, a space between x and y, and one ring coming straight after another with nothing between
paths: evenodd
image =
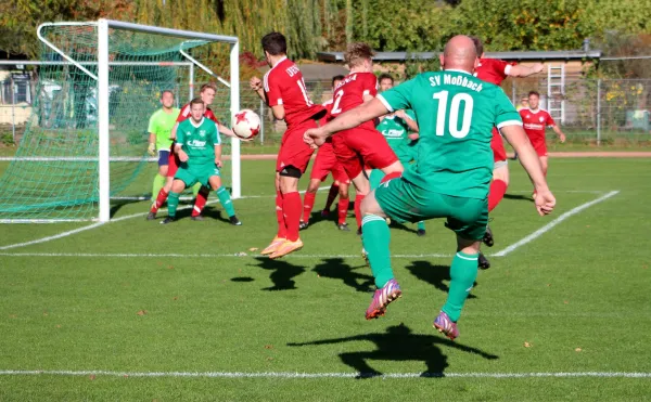
<instances>
[{"instance_id":1,"label":"bald number 10 player's bare right arm with clenched fist","mask_svg":"<svg viewBox=\"0 0 651 402\"><path fill-rule=\"evenodd\" d=\"M524 129L521 126L506 126L500 129L502 135L507 138L511 146L518 153L518 159L526 170L527 174L536 189L536 209L540 216L551 213L556 206L556 198L547 186L547 180L542 173L540 160L532 143L529 142Z\"/></svg>"}]
</instances>

